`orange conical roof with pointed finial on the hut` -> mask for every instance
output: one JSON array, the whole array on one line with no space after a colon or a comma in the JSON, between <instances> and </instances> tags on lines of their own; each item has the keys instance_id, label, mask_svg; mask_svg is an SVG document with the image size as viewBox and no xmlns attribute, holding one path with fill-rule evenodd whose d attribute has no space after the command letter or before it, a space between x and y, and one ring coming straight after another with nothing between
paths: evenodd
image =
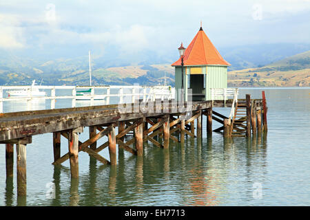
<instances>
[{"instance_id":1,"label":"orange conical roof with pointed finial on the hut","mask_svg":"<svg viewBox=\"0 0 310 220\"><path fill-rule=\"evenodd\" d=\"M230 63L225 61L216 47L211 43L203 28L200 28L194 39L189 43L185 50L184 65L227 65ZM172 63L172 66L180 66L181 59Z\"/></svg>"}]
</instances>

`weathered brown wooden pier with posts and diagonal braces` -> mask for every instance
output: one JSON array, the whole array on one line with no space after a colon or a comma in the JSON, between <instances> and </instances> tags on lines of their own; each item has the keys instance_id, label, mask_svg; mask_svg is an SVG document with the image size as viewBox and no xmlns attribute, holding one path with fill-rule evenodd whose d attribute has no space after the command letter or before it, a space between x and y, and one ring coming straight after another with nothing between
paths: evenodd
<instances>
[{"instance_id":1,"label":"weathered brown wooden pier with posts and diagonal braces","mask_svg":"<svg viewBox=\"0 0 310 220\"><path fill-rule=\"evenodd\" d=\"M67 109L19 111L1 113L0 143L6 144L6 175L13 175L14 144L17 153L17 195L26 195L26 146L33 135L53 133L54 162L70 160L71 177L79 177L79 152L83 151L103 164L115 166L116 146L141 157L143 143L152 142L159 148L169 148L169 142L185 142L188 137L202 137L203 116L207 118L207 135L212 135L212 121L223 126L214 129L225 138L251 137L267 131L265 94L259 100L245 99L208 100L178 103L174 100L138 101L130 104L110 104ZM212 109L231 107L226 117ZM196 121L196 123L195 123ZM196 124L196 127L195 127ZM79 141L79 134L89 127L89 139ZM116 133L117 128L117 133ZM129 132L134 136L125 141ZM68 153L61 155L61 136L68 140ZM107 136L107 142L96 142ZM65 146L67 147L67 146ZM108 148L110 159L99 152Z\"/></svg>"}]
</instances>

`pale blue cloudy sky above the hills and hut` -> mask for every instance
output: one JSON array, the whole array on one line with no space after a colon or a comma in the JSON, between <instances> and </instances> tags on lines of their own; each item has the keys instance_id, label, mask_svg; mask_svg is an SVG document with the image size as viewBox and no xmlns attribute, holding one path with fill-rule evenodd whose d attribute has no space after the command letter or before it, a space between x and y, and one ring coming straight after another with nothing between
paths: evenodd
<instances>
[{"instance_id":1,"label":"pale blue cloudy sky above the hills and hut","mask_svg":"<svg viewBox=\"0 0 310 220\"><path fill-rule=\"evenodd\" d=\"M1 50L165 54L200 28L216 47L310 43L310 0L0 1Z\"/></svg>"}]
</instances>

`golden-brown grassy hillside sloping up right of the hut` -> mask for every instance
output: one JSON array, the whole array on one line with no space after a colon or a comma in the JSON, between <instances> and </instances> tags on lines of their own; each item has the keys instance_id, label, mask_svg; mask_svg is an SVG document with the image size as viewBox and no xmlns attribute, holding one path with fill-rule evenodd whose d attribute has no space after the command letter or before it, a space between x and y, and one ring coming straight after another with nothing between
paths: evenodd
<instances>
[{"instance_id":1,"label":"golden-brown grassy hillside sloping up right of the hut","mask_svg":"<svg viewBox=\"0 0 310 220\"><path fill-rule=\"evenodd\" d=\"M309 87L310 51L264 67L231 71L228 83L231 87Z\"/></svg>"}]
</instances>

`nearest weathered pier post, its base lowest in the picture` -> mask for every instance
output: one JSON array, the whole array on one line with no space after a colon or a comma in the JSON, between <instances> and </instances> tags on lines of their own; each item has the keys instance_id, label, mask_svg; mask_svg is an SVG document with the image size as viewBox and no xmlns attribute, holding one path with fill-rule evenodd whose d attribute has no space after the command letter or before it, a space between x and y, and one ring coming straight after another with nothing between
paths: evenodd
<instances>
[{"instance_id":1,"label":"nearest weathered pier post, its base lowest in the picture","mask_svg":"<svg viewBox=\"0 0 310 220\"><path fill-rule=\"evenodd\" d=\"M27 175L26 175L26 145L30 144L32 137L25 137L18 140L16 144L17 152L17 195L27 194Z\"/></svg>"}]
</instances>

